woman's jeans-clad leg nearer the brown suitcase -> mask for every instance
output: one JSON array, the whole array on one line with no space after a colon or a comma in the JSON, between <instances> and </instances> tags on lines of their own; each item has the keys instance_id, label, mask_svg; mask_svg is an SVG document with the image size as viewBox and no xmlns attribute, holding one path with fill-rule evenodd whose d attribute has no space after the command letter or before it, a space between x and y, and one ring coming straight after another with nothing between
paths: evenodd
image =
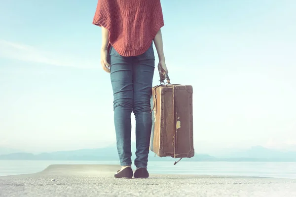
<instances>
[{"instance_id":1,"label":"woman's jeans-clad leg nearer the brown suitcase","mask_svg":"<svg viewBox=\"0 0 296 197\"><path fill-rule=\"evenodd\" d=\"M154 53L152 45L148 51L134 60L134 102L133 112L136 117L136 159L137 168L147 167L149 141L151 134L150 97L154 73Z\"/></svg>"}]
</instances>

